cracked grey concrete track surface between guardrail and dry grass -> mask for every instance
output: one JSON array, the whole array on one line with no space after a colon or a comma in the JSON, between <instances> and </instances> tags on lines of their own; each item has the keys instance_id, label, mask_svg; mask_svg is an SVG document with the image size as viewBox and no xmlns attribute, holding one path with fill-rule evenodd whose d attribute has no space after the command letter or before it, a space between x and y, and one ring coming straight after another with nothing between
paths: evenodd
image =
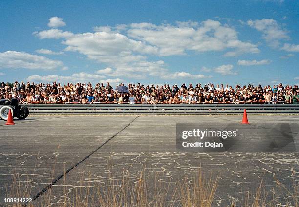
<instances>
[{"instance_id":1,"label":"cracked grey concrete track surface between guardrail and dry grass","mask_svg":"<svg viewBox=\"0 0 299 207\"><path fill-rule=\"evenodd\" d=\"M253 131L260 123L299 123L298 115L249 115L248 119ZM82 200L86 191L91 196L99 186L121 180L123 174L138 181L141 171L150 189L151 179L158 174L158 183L170 185L169 196L176 183L199 169L205 175L212 172L220 177L214 206L221 207L242 203L248 191L255 193L261 180L266 191L276 188L277 182L292 189L299 175L296 151L196 153L176 149L176 123L214 126L241 120L239 115L128 115L29 116L10 126L0 121L0 206L5 205L4 198L16 197L34 198L37 207L73 203ZM298 151L299 132L292 136ZM26 186L30 189L25 194Z\"/></svg>"}]
</instances>

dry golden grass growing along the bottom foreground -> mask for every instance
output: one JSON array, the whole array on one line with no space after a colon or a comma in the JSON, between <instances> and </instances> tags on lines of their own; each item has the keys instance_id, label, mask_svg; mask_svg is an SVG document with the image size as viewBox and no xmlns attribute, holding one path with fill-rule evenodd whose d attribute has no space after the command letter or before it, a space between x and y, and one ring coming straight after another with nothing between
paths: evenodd
<instances>
[{"instance_id":1,"label":"dry golden grass growing along the bottom foreground","mask_svg":"<svg viewBox=\"0 0 299 207\"><path fill-rule=\"evenodd\" d=\"M54 174L54 170L53 170ZM74 188L69 192L65 187L59 204L55 207L215 207L215 195L219 184L219 177L210 174L206 176L202 171L194 173L193 177L185 178L179 183L159 182L163 173L155 172L152 176L140 172L138 179L129 177L123 172L122 178L114 178L111 173L107 185L94 185ZM28 176L29 177L29 176ZM54 177L54 176L53 176ZM66 176L63 183L66 184ZM84 179L82 178L82 181ZM88 179L91 180L91 179ZM8 198L29 198L36 192L33 190L33 178L21 182L16 173L9 190ZM266 191L263 181L255 192L248 192L239 202L231 202L231 207L298 207L298 182L294 181L293 189L286 188L275 177L274 181L280 193L275 189ZM61 182L61 181L60 181ZM90 187L94 185L93 187ZM89 187L88 187L89 186ZM54 187L53 187L54 188ZM281 193L283 192L283 193ZM49 188L40 198L28 207L48 207L53 202L52 188ZM56 199L57 201L57 199ZM9 203L7 207L24 207L22 203Z\"/></svg>"}]
</instances>

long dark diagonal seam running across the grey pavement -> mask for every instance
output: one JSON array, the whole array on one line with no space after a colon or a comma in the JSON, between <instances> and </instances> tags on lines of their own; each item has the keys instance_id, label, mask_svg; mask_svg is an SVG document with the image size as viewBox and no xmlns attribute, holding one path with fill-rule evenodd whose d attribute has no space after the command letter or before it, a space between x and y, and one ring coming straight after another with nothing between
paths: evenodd
<instances>
[{"instance_id":1,"label":"long dark diagonal seam running across the grey pavement","mask_svg":"<svg viewBox=\"0 0 299 207\"><path fill-rule=\"evenodd\" d=\"M114 134L113 136L111 136L109 139L107 139L103 144L101 144L97 149L95 149L94 151L92 151L90 154L88 154L87 156L85 156L85 158L83 158L82 160L80 160L78 163L76 163L75 165L73 165L71 168L67 169L66 171L64 171L61 175L59 175L58 177L55 178L54 181L52 181L51 184L47 185L46 187L44 187L39 193L37 193L31 200L31 202L35 201L37 198L39 198L44 192L46 192L48 189L50 189L56 182L58 182L61 178L64 177L64 175L66 175L67 173L69 173L72 169L74 169L75 167L77 167L79 164L81 164L82 162L84 162L86 159L88 159L91 155L93 155L94 153L96 153L100 148L102 148L105 144L107 144L107 142L109 142L111 139L113 139L115 136L117 136L120 132L124 131L128 126L130 126L131 123L133 123L139 116L135 117L130 123L128 123L122 130L120 130L119 132L117 132L116 134ZM24 204L23 207L27 207L28 203Z\"/></svg>"}]
</instances>

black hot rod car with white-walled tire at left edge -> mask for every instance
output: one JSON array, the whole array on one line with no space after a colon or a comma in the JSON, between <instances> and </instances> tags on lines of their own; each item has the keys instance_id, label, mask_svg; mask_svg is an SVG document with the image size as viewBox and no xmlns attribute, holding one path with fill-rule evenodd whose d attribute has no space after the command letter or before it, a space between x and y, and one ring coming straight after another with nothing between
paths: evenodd
<instances>
[{"instance_id":1,"label":"black hot rod car with white-walled tire at left edge","mask_svg":"<svg viewBox=\"0 0 299 207\"><path fill-rule=\"evenodd\" d=\"M25 119L29 114L29 110L24 105L19 105L18 100L12 98L11 100L3 99L0 100L0 118L7 120L8 112L11 110L12 116L18 119Z\"/></svg>"}]
</instances>

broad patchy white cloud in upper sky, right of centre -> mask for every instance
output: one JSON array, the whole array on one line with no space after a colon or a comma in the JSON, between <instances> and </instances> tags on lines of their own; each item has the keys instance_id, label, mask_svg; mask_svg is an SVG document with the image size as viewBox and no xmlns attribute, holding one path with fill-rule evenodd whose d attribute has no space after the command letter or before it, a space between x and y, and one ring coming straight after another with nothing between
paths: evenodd
<instances>
[{"instance_id":1,"label":"broad patchy white cloud in upper sky, right of centre","mask_svg":"<svg viewBox=\"0 0 299 207\"><path fill-rule=\"evenodd\" d=\"M255 44L240 41L234 28L211 19L201 23L177 22L176 26L133 23L127 32L129 37L159 48L160 56L185 55L188 50L198 52L233 50L227 53L227 56L259 52Z\"/></svg>"}]
</instances>

